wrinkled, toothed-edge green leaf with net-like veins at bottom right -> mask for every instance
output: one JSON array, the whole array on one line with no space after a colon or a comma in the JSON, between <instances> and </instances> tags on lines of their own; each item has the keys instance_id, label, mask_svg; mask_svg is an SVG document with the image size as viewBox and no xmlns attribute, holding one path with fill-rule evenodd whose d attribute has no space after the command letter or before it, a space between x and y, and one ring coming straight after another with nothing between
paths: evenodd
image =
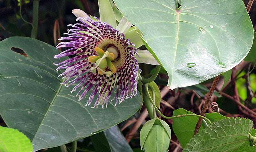
<instances>
[{"instance_id":1,"label":"wrinkled, toothed-edge green leaf with net-like veins at bottom right","mask_svg":"<svg viewBox=\"0 0 256 152\"><path fill-rule=\"evenodd\" d=\"M196 134L183 152L229 152L249 141L252 126L253 121L239 117L213 122Z\"/></svg>"}]
</instances>

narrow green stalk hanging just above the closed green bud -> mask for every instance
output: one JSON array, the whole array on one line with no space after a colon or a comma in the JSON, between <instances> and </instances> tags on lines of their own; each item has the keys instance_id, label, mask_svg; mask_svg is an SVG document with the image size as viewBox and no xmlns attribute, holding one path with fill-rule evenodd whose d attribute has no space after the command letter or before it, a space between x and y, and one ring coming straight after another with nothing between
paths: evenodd
<instances>
[{"instance_id":1,"label":"narrow green stalk hanging just above the closed green bud","mask_svg":"<svg viewBox=\"0 0 256 152\"><path fill-rule=\"evenodd\" d=\"M147 94L147 92L148 92L148 84L143 84L142 85L143 101L148 110L148 115L149 115L150 119L154 119L155 117L154 117L153 107L152 107L151 101L149 100L151 98L150 98L149 93Z\"/></svg>"}]
</instances>

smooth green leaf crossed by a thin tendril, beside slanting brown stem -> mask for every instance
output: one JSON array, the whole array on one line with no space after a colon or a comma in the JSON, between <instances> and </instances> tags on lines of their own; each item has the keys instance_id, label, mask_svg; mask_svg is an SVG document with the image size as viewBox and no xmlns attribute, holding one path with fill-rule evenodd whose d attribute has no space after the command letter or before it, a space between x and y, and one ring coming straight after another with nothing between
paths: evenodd
<instances>
[{"instance_id":1,"label":"smooth green leaf crossed by a thin tendril, beside slanting brown stem","mask_svg":"<svg viewBox=\"0 0 256 152\"><path fill-rule=\"evenodd\" d=\"M173 116L181 114L194 114L190 111L187 111L183 108L179 108L173 111ZM188 117L179 117L173 119L172 129L180 141L182 148L186 146L191 138L193 138L194 130L196 128L196 123L198 117L188 116ZM207 126L207 123L203 120L199 131L204 129Z\"/></svg>"}]
</instances>

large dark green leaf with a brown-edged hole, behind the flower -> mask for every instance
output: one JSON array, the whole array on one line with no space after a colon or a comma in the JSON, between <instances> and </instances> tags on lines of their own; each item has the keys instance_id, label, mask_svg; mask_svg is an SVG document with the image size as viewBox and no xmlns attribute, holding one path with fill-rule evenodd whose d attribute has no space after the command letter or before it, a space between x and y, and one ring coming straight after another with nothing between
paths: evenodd
<instances>
[{"instance_id":1,"label":"large dark green leaf with a brown-edged hole, behind the flower","mask_svg":"<svg viewBox=\"0 0 256 152\"><path fill-rule=\"evenodd\" d=\"M70 93L72 86L60 85L62 71L53 65L60 62L53 58L60 51L39 40L7 38L0 42L0 52L0 114L8 127L28 136L34 151L110 128L140 107L139 93L116 107L111 102L105 109L85 107L89 95L78 101Z\"/></svg>"}]
</instances>

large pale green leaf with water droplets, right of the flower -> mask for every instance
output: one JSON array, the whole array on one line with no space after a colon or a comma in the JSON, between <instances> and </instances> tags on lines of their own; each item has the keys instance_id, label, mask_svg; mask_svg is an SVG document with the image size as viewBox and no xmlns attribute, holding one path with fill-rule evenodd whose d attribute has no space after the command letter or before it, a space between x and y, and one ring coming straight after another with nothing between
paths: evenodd
<instances>
[{"instance_id":1,"label":"large pale green leaf with water droplets, right of the flower","mask_svg":"<svg viewBox=\"0 0 256 152\"><path fill-rule=\"evenodd\" d=\"M167 71L171 89L230 70L252 46L252 22L242 0L114 2L144 34L145 46Z\"/></svg>"}]
</instances>

